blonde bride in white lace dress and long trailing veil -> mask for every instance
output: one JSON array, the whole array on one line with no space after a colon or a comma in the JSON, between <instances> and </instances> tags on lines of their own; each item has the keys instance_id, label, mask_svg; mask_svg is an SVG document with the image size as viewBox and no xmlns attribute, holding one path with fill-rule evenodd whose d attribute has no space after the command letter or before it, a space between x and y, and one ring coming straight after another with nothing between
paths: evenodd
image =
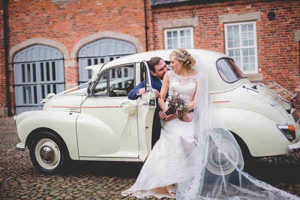
<instances>
[{"instance_id":1,"label":"blonde bride in white lace dress and long trailing veil","mask_svg":"<svg viewBox=\"0 0 300 200\"><path fill-rule=\"evenodd\" d=\"M158 105L161 109L161 133L146 159L136 182L123 196L137 198L176 197L177 199L300 199L259 181L242 171L241 150L222 121L212 115L208 94L208 77L203 68L193 69L195 59L183 48L170 53L170 67L163 77ZM164 97L180 94L193 109L191 122L184 117L168 118ZM169 96L170 97L170 96ZM228 145L228 141L230 145ZM206 169L211 145L218 148L221 175ZM232 152L230 148L237 149ZM237 155L237 156L236 156ZM228 160L234 170L227 167L221 157Z\"/></svg>"}]
</instances>

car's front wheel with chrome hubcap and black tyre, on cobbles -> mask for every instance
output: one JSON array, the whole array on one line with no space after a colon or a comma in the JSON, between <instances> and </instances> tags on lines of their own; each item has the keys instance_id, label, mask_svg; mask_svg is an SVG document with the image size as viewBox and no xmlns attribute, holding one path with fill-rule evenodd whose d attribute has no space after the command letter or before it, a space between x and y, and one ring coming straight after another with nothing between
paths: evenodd
<instances>
[{"instance_id":1,"label":"car's front wheel with chrome hubcap and black tyre, on cobbles","mask_svg":"<svg viewBox=\"0 0 300 200\"><path fill-rule=\"evenodd\" d=\"M51 132L42 132L35 137L29 149L34 167L43 173L61 171L67 161L64 142Z\"/></svg>"}]
</instances>

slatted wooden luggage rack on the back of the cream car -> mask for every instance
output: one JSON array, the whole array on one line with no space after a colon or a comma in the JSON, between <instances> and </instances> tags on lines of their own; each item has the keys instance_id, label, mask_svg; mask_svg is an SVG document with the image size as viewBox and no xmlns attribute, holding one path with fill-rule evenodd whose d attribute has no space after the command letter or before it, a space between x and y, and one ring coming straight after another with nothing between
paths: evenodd
<instances>
[{"instance_id":1,"label":"slatted wooden luggage rack on the back of the cream car","mask_svg":"<svg viewBox=\"0 0 300 200\"><path fill-rule=\"evenodd\" d=\"M277 97L279 97L280 99L282 99L288 103L290 103L292 100L294 100L295 96L297 95L297 94L293 95L292 93L290 93L289 91L287 91L286 89L281 87L279 84L277 84L273 80L259 82L256 85L258 85L258 84L267 88L272 93L274 93Z\"/></svg>"}]
</instances>

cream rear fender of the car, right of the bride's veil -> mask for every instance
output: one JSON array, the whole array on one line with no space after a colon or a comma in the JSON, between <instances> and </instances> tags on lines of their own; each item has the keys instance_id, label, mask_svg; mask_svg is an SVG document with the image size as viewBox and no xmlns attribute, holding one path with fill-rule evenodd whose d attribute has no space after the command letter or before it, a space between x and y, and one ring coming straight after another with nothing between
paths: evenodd
<instances>
[{"instance_id":1,"label":"cream rear fender of the car, right of the bride's veil","mask_svg":"<svg viewBox=\"0 0 300 200\"><path fill-rule=\"evenodd\" d=\"M216 108L212 119L212 122L223 121L230 131L242 138L252 156L288 153L288 145L294 143L277 128L275 121L251 110Z\"/></svg>"}]
</instances>

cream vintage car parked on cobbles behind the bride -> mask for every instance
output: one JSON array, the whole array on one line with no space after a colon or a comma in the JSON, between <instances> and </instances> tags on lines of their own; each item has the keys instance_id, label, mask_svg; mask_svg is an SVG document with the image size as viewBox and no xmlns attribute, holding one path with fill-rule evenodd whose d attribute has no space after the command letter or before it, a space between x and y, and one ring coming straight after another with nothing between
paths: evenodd
<instances>
[{"instance_id":1,"label":"cream vintage car parked on cobbles behind the bride","mask_svg":"<svg viewBox=\"0 0 300 200\"><path fill-rule=\"evenodd\" d=\"M222 53L189 52L196 67L207 67L213 114L232 132L245 159L300 149L296 94L274 81L251 83ZM27 146L33 165L45 173L63 169L70 159L144 161L151 150L156 107L146 61L160 56L167 62L169 54L170 50L148 51L86 67L93 71L88 87L48 94L42 110L16 116L20 139L16 149ZM129 100L128 91L143 79L144 72L148 92ZM130 128L129 134L123 134L125 128ZM214 145L209 151L209 171L221 174L214 164L220 160L228 165L225 174L233 171Z\"/></svg>"}]
</instances>

